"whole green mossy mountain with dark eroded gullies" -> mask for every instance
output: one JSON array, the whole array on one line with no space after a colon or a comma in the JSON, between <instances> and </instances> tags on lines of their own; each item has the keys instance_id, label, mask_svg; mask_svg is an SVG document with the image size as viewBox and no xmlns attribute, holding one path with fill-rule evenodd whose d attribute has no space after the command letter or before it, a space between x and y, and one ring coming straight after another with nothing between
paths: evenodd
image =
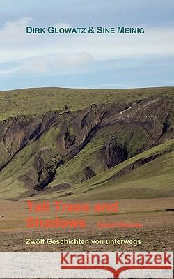
<instances>
[{"instance_id":1,"label":"whole green mossy mountain with dark eroded gullies","mask_svg":"<svg viewBox=\"0 0 174 279\"><path fill-rule=\"evenodd\" d=\"M0 199L174 195L174 88L0 92Z\"/></svg>"}]
</instances>

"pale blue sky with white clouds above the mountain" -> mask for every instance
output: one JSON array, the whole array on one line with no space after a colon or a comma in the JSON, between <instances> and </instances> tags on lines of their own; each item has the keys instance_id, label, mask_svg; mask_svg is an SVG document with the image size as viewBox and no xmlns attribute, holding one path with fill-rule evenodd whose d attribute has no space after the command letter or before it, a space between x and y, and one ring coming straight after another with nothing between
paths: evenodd
<instances>
[{"instance_id":1,"label":"pale blue sky with white clouds above the mountain","mask_svg":"<svg viewBox=\"0 0 174 279\"><path fill-rule=\"evenodd\" d=\"M137 34L26 34L31 27L143 27ZM0 1L0 91L174 86L173 0Z\"/></svg>"}]
</instances>

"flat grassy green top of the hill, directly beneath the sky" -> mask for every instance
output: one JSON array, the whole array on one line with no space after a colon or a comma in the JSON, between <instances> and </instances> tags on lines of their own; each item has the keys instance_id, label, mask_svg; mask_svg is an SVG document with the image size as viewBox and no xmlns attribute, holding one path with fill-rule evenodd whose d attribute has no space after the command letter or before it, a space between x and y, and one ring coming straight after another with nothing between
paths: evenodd
<instances>
[{"instance_id":1,"label":"flat grassy green top of the hill, directly beneath the sky","mask_svg":"<svg viewBox=\"0 0 174 279\"><path fill-rule=\"evenodd\" d=\"M38 116L48 111L77 111L92 104L129 103L150 96L173 96L173 87L148 89L63 89L39 88L2 91L0 119L10 116Z\"/></svg>"}]
</instances>

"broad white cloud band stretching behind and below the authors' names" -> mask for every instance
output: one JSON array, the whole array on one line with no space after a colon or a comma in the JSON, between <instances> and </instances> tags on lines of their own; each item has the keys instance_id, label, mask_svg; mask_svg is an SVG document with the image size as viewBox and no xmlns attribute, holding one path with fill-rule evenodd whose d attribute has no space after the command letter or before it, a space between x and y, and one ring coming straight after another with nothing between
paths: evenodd
<instances>
[{"instance_id":1,"label":"broad white cloud band stretching behind and below the authors' names","mask_svg":"<svg viewBox=\"0 0 174 279\"><path fill-rule=\"evenodd\" d=\"M0 64L15 63L1 75L23 73L79 73L97 61L174 56L173 27L145 27L144 34L43 34L25 33L31 17L6 22L0 29ZM34 26L34 24L33 24ZM53 26L70 27L60 22Z\"/></svg>"}]
</instances>

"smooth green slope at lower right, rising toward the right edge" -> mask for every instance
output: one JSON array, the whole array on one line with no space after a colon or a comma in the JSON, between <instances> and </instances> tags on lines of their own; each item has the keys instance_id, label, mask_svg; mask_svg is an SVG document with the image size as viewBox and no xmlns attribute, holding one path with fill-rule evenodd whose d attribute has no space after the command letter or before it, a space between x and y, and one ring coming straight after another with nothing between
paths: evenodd
<instances>
[{"instance_id":1,"label":"smooth green slope at lower right, rising toward the right edge","mask_svg":"<svg viewBox=\"0 0 174 279\"><path fill-rule=\"evenodd\" d=\"M112 179L124 167L131 165L136 160L172 150L173 152L164 154L121 176L119 179ZM45 195L45 199L58 198L59 196L66 195L68 192L73 194L64 197L64 199L71 201L173 197L173 173L174 139L144 151L83 183L77 183L77 185L72 186L68 190ZM36 199L40 198L42 197L36 197Z\"/></svg>"}]
</instances>

